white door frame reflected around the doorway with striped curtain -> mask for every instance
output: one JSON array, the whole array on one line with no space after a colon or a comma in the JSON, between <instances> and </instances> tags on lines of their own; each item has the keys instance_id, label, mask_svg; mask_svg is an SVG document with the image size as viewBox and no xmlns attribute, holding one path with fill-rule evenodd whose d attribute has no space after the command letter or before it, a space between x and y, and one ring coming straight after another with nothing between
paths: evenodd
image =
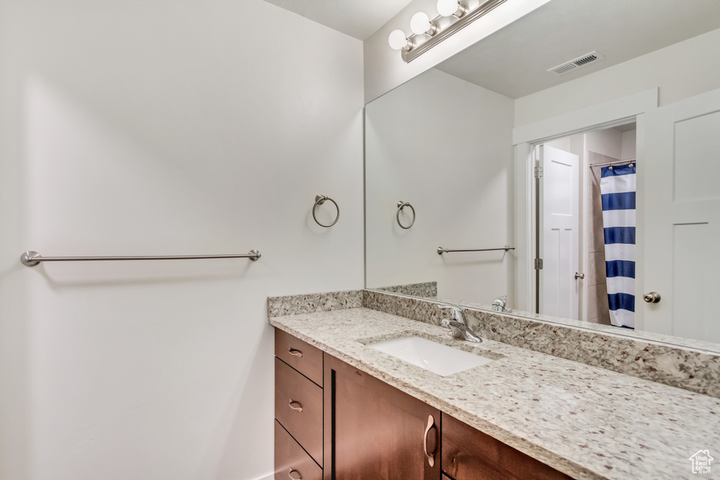
<instances>
[{"instance_id":1,"label":"white door frame reflected around the doorway with striped curtain","mask_svg":"<svg viewBox=\"0 0 720 480\"><path fill-rule=\"evenodd\" d=\"M515 242L516 242L516 308L525 312L534 312L536 301L537 285L535 281L535 269L533 266L536 258L534 242L535 232L535 181L534 181L534 149L549 140L560 137L567 137L577 133L590 130L602 130L604 128L616 127L635 120L637 122L637 144L636 160L639 163L637 169L637 189L642 191L644 185L644 116L645 112L658 107L658 88L654 87L645 91L605 101L590 107L577 109L574 112L540 120L532 124L516 127L513 129L513 145L515 147ZM585 181L585 174L581 175L581 181ZM583 193L582 201L588 201L587 189ZM636 244L644 242L644 205L642 195L637 199L637 234ZM587 222L583 222L586 224ZM583 243L587 242L585 232L586 225L582 225ZM583 245L583 250L587 247ZM642 291L643 263L642 248L636 253L636 290ZM585 268L585 259L580 258L581 268ZM583 291L585 289L583 288ZM642 309L635 312L635 327L642 330Z\"/></svg>"}]
</instances>

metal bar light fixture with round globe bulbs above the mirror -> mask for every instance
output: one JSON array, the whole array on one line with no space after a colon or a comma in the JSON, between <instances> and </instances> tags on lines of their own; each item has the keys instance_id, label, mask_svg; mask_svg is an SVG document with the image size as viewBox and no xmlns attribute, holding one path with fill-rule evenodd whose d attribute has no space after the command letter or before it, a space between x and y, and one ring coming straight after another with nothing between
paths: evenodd
<instances>
[{"instance_id":1,"label":"metal bar light fixture with round globe bulbs above the mirror","mask_svg":"<svg viewBox=\"0 0 720 480\"><path fill-rule=\"evenodd\" d=\"M413 35L407 37L402 30L393 30L387 42L393 50L400 50L402 60L408 63L505 1L438 0L437 17L430 19L425 12L418 12L410 19Z\"/></svg>"}]
</instances>

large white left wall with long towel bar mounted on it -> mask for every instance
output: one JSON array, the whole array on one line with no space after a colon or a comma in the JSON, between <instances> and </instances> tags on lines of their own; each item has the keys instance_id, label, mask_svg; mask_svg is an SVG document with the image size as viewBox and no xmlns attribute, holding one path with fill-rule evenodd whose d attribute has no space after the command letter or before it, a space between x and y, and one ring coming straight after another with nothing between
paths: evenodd
<instances>
[{"instance_id":1,"label":"large white left wall with long towel bar mounted on it","mask_svg":"<svg viewBox=\"0 0 720 480\"><path fill-rule=\"evenodd\" d=\"M266 296L362 286L361 42L261 0L0 22L0 479L270 474Z\"/></svg>"}]
</instances>

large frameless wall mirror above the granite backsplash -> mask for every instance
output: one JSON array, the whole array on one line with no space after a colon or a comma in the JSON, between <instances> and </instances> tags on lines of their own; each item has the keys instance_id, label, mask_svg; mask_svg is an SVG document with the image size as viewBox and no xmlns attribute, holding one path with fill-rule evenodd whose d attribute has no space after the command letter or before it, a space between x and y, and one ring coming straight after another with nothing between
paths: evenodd
<instances>
[{"instance_id":1,"label":"large frameless wall mirror above the granite backsplash","mask_svg":"<svg viewBox=\"0 0 720 480\"><path fill-rule=\"evenodd\" d=\"M552 0L367 104L366 287L720 351L719 45Z\"/></svg>"}]
</instances>

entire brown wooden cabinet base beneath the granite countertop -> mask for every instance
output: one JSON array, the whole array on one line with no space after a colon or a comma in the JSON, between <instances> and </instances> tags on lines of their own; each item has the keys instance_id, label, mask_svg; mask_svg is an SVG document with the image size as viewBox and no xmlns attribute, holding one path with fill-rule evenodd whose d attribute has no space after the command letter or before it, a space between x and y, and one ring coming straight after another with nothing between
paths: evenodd
<instances>
[{"instance_id":1,"label":"entire brown wooden cabinet base beneath the granite countertop","mask_svg":"<svg viewBox=\"0 0 720 480\"><path fill-rule=\"evenodd\" d=\"M556 480L559 471L275 330L276 480Z\"/></svg>"}]
</instances>

